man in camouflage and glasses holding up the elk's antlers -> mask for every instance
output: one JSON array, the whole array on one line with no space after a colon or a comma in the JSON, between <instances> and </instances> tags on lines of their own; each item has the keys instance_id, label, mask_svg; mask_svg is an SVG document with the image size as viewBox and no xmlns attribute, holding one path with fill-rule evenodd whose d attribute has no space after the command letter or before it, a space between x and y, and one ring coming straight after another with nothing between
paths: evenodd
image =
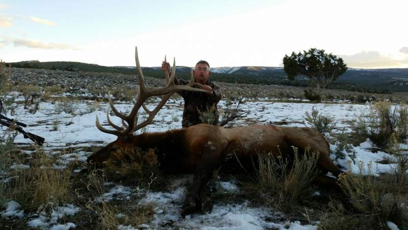
<instances>
[{"instance_id":1,"label":"man in camouflage and glasses holding up the elk's antlers","mask_svg":"<svg viewBox=\"0 0 408 230\"><path fill-rule=\"evenodd\" d=\"M171 75L170 64L163 61L162 71L167 71ZM199 93L191 91L180 91L179 94L184 98L184 111L183 111L183 127L189 127L203 122L209 122L210 124L218 124L218 108L217 104L221 100L222 94L220 87L210 81L210 64L207 61L200 60L195 65L195 82L204 85L203 89L208 93ZM174 83L176 85L186 85L188 81L177 79L174 77ZM203 115L205 120L203 121Z\"/></svg>"}]
</instances>

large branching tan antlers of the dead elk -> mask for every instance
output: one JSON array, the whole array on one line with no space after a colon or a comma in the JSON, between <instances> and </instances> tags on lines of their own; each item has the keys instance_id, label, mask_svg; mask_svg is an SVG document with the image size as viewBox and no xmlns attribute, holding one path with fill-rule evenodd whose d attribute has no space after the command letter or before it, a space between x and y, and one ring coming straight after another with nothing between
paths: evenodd
<instances>
[{"instance_id":1,"label":"large branching tan antlers of the dead elk","mask_svg":"<svg viewBox=\"0 0 408 230\"><path fill-rule=\"evenodd\" d=\"M150 124L153 121L153 118L156 116L156 113L163 107L163 105L167 102L170 96L174 94L175 92L181 91L181 90L196 91L196 92L202 92L202 93L208 92L207 90L200 89L203 86L202 84L194 82L192 69L191 69L190 81L187 85L174 84L175 59L173 60L173 70L171 72L171 76L169 76L168 72L165 71L165 77L166 77L166 83L167 83L166 86L163 88L147 89L144 84L142 68L140 67L140 63L139 63L137 47L135 48L135 59L136 59L136 68L137 68L138 78L139 78L139 95L137 97L135 106L133 106L132 111L129 113L129 115L126 116L125 114L120 113L115 108L115 106L113 105L112 99L109 95L109 105L111 106L112 111L115 113L115 115L119 117L120 119L122 119L122 124L124 127L120 127L120 126L113 124L113 122L109 119L109 112L107 111L108 124L112 126L113 128L115 128L116 130L106 129L102 127L99 123L98 116L96 116L96 127L102 132L114 134L118 137L125 137L127 135L131 135L135 131ZM166 60L166 57L165 57L165 60ZM194 86L198 86L200 88L194 88ZM164 96L162 97L162 100L159 102L159 104L154 110L150 111L143 105L143 103L149 97L160 96L160 95L164 95ZM146 113L148 114L148 118L142 123L137 124L137 112L142 106L144 110L146 111ZM127 124L125 124L125 122Z\"/></svg>"}]
</instances>

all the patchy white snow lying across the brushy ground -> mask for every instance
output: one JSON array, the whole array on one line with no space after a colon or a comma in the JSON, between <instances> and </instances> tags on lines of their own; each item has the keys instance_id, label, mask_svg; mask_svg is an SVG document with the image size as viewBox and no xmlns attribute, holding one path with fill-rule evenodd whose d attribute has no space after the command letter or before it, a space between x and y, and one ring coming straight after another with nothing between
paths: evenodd
<instances>
[{"instance_id":1,"label":"all the patchy white snow lying across the brushy ground","mask_svg":"<svg viewBox=\"0 0 408 230\"><path fill-rule=\"evenodd\" d=\"M19 99L17 99L19 100ZM153 101L147 107L151 110L157 105L159 100ZM61 111L61 105L51 104L47 102L40 103L39 110L31 114L24 110L21 105L15 105L15 113L7 114L9 118L17 118L19 122L25 123L28 127L25 131L40 135L45 138L43 150L46 153L58 154L59 158L54 167L63 168L66 164L72 161L79 160L85 162L86 157L91 154L84 150L90 146L105 146L109 142L115 141L116 136L100 132L95 127L95 118L98 116L102 125L106 125L106 110L107 103L100 103L99 110L90 111L93 101L73 102L74 114ZM223 101L219 104L225 106ZM133 105L127 103L115 103L115 107L122 112L129 112ZM368 104L348 104L346 102L330 103L330 104L312 104L312 103L290 103L290 102L271 102L270 100L247 101L242 109L250 111L247 118L243 118L236 122L236 126L247 125L249 123L269 124L274 122L287 122L287 126L304 127L305 112L311 113L312 108L319 110L323 116L333 117L337 123L336 127L339 130L344 129L349 132L350 123L358 118L361 114L369 111ZM181 128L183 112L183 101L181 99L170 99L166 105L160 110L154 119L154 124L147 127L148 132L166 131L169 129ZM145 115L141 115L139 120ZM111 120L120 125L121 121L118 117L112 116ZM6 127L0 128L0 135L6 131ZM29 139L23 139L21 134L18 134L15 143L31 144ZM385 152L372 153L370 149L373 144L369 141L362 143L360 146L353 147L352 152L343 151L343 159L336 158L332 154L330 157L335 163L343 167L343 170L351 170L353 173L358 173L362 170L363 173L388 173L396 167L395 164L380 164L381 160L388 159L393 162L393 156ZM75 148L75 151L65 153L66 148ZM331 145L330 148L335 150L337 146ZM401 148L408 149L406 144L401 145ZM34 150L35 151L35 150ZM33 151L26 150L26 154L31 154ZM13 165L16 169L24 169L28 166ZM80 169L76 169L78 172ZM3 182L7 178L2 178ZM180 209L186 188L180 181L188 180L182 178L179 181L173 181L174 185L167 192L150 192L146 191L146 195L139 201L142 203L154 203L154 220L150 223L144 223L141 226L118 226L118 229L133 229L133 228L166 228L166 223L172 227L180 227L181 229L201 228L201 229L316 229L316 225L301 225L299 222L283 223L277 221L277 214L266 208L253 207L247 201L235 204L221 204L215 202L212 213L199 215L194 214L183 219L180 216ZM191 179L191 178L190 178ZM136 187L136 186L135 186ZM220 181L219 187L227 192L237 192L240 190L235 185L234 181ZM131 199L135 195L136 188L114 185L108 193L96 198L96 201L111 199ZM15 201L7 203L4 207L5 211L1 215L5 218L21 218L24 214L20 211L19 204ZM74 215L78 208L67 204L64 207L59 207L53 210L50 216L40 214L38 218L32 218L28 221L28 225L32 227L41 227L46 229L69 229L74 228L74 223L59 224L58 220L64 215ZM276 218L274 218L276 217ZM389 224L390 226L392 223Z\"/></svg>"}]
</instances>

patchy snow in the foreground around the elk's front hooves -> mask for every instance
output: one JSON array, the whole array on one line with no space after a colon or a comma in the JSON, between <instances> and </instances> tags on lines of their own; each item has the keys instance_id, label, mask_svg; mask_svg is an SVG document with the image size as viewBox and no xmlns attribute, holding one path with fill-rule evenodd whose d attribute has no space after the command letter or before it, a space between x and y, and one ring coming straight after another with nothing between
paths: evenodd
<instances>
[{"instance_id":1,"label":"patchy snow in the foreground around the elk's front hooves","mask_svg":"<svg viewBox=\"0 0 408 230\"><path fill-rule=\"evenodd\" d=\"M184 178L187 180L188 178ZM173 181L170 192L146 192L139 204L154 204L154 220L149 223L150 228L166 229L166 226L180 229L316 229L317 226L303 225L299 222L281 223L278 219L282 214L263 207L253 207L249 201L225 204L214 201L211 213L192 214L185 218L180 216L180 210L186 196L187 189L180 185L180 179ZM221 181L221 187L226 190L237 189L228 181Z\"/></svg>"}]
</instances>

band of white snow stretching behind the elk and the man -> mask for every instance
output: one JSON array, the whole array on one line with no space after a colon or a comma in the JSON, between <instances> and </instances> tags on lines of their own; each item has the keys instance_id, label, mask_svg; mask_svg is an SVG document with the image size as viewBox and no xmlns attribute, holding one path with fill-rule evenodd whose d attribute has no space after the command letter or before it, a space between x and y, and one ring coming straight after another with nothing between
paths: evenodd
<instances>
[{"instance_id":1,"label":"band of white snow stretching behind the elk and the man","mask_svg":"<svg viewBox=\"0 0 408 230\"><path fill-rule=\"evenodd\" d=\"M147 108L154 108L159 101L156 100ZM35 114L29 113L19 105L15 109L15 114L12 116L10 112L7 114L9 118L17 118L19 122L25 123L28 127L24 128L27 132L40 135L45 138L45 147L61 147L67 144L86 144L86 143L109 143L116 140L116 136L100 132L95 127L95 118L98 116L101 123L107 125L106 109L107 103L100 103L99 107L102 111L88 112L93 101L74 103L72 107L75 109L75 114L69 114L59 108L58 102L51 104L48 102L40 103L39 110ZM220 106L225 103L221 101ZM130 112L133 105L129 102L115 102L115 107L122 112ZM323 116L334 117L338 128L349 129L347 121L356 119L360 114L367 112L369 105L363 104L314 104L314 103L289 103L289 102L270 102L270 101L248 101L242 105L242 109L249 109L250 113L246 119L241 119L237 122L239 125L245 125L247 120L257 121L259 124L267 124L269 122L288 122L289 126L304 126L304 113L311 112L312 108L318 109ZM109 108L110 110L110 108ZM170 99L166 105L160 110L154 119L154 124L147 127L147 131L166 131L174 128L181 128L181 118L183 113L183 100ZM142 113L141 117L145 117ZM112 116L111 120L120 125L121 121L118 117ZM58 122L57 130L54 130L54 124ZM3 128L5 129L5 128ZM2 131L0 131L1 133ZM19 134L15 140L16 143L31 143L29 139L23 139Z\"/></svg>"}]
</instances>

